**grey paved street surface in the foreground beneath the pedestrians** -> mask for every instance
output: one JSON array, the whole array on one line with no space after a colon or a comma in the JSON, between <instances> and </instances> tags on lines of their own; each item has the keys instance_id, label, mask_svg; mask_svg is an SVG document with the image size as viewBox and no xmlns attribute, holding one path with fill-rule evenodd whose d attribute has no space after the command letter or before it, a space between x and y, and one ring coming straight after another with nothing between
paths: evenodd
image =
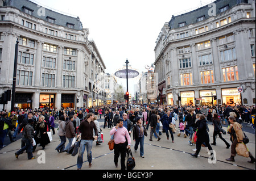
<instances>
[{"instance_id":1,"label":"grey paved street surface in the foreground beneath the pedestrians","mask_svg":"<svg viewBox=\"0 0 256 181\"><path fill-rule=\"evenodd\" d=\"M100 122L102 125L103 123ZM210 142L213 138L213 125L209 124L209 136ZM177 125L176 125L177 127ZM120 161L118 168L114 166L114 151L110 151L108 148L108 141L110 139L108 128L102 129L104 133L104 143L96 146L96 142L93 142L92 148L92 167L89 169L88 161L86 157L86 151L84 153L84 164L82 170L119 170L121 169ZM150 129L147 131L148 135ZM246 133L250 142L247 144L247 148L253 153L255 157L255 136L251 133ZM208 152L206 148L201 148L200 157L193 158L190 153L195 153L192 149L195 146L188 145L188 137L177 137L177 132L174 134L174 143L167 140L166 133L162 133L160 136L162 139L157 141L153 138L153 141L149 141L149 136L144 138L144 156L139 156L139 149L137 153L134 152L135 142L131 141L131 150L135 158L134 170L247 170L254 169L255 163L247 163L250 158L245 158L237 155L235 157L236 162L228 162L225 158L230 157L230 148L225 149L226 145L220 138L217 138L217 145L213 146L213 150L216 151L216 163L208 162ZM229 143L230 136L226 134L223 136ZM77 155L73 157L67 153L57 153L56 146L60 144L60 138L56 134L52 136L53 140L46 146L46 149L41 150L42 147L38 146L35 150L34 156L36 159L28 160L27 153L19 155L16 159L14 153L20 149L20 140L17 140L5 148L0 150L0 169L1 170L76 170ZM66 142L67 145L67 142ZM120 158L119 158L120 160Z\"/></svg>"}]
</instances>

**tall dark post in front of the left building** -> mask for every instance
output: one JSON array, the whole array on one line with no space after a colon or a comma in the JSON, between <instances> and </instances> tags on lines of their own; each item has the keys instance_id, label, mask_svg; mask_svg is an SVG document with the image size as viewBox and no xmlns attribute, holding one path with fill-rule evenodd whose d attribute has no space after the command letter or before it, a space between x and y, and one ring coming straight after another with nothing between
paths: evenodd
<instances>
[{"instance_id":1,"label":"tall dark post in front of the left building","mask_svg":"<svg viewBox=\"0 0 256 181\"><path fill-rule=\"evenodd\" d=\"M18 49L19 49L19 39L17 38L15 45L15 57L14 57L14 70L13 70L13 90L11 92L11 111L15 111L15 91L16 91L16 75L17 75L17 64L18 64Z\"/></svg>"}]
</instances>

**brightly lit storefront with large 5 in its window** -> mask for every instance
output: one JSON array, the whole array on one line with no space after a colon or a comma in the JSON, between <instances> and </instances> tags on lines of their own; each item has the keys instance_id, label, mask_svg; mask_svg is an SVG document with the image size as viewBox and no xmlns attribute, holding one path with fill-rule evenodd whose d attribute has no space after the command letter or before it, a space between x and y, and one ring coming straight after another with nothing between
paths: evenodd
<instances>
[{"instance_id":1,"label":"brightly lit storefront with large 5 in its window","mask_svg":"<svg viewBox=\"0 0 256 181\"><path fill-rule=\"evenodd\" d=\"M241 94L238 92L237 87L230 89L222 89L222 103L236 106L237 104L241 104Z\"/></svg>"}]
</instances>

